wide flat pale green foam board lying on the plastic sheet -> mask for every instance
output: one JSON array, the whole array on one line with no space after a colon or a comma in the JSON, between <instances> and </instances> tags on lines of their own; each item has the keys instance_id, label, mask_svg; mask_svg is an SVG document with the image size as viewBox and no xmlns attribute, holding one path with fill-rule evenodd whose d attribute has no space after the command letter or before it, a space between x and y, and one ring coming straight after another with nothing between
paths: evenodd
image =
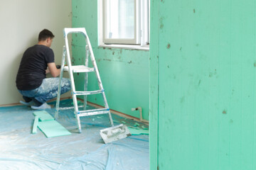
<instances>
[{"instance_id":1,"label":"wide flat pale green foam board lying on the plastic sheet","mask_svg":"<svg viewBox=\"0 0 256 170\"><path fill-rule=\"evenodd\" d=\"M71 133L56 120L38 122L38 128L46 135L46 137L71 135Z\"/></svg>"}]
</instances>

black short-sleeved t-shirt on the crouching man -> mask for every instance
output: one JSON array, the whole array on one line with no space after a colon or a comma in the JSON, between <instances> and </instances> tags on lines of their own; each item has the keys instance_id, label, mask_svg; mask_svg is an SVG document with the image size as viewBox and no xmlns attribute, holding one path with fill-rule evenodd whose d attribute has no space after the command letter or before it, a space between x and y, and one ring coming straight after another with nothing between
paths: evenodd
<instances>
[{"instance_id":1,"label":"black short-sleeved t-shirt on the crouching man","mask_svg":"<svg viewBox=\"0 0 256 170\"><path fill-rule=\"evenodd\" d=\"M46 45L34 45L23 54L16 77L18 90L33 90L46 78L47 64L54 62L54 53Z\"/></svg>"}]
</instances>

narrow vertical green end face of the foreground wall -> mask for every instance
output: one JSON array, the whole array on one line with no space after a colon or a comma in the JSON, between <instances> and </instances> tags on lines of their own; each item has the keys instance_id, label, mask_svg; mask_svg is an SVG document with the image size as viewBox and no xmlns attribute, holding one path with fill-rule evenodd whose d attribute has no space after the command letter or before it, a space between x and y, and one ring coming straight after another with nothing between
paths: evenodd
<instances>
[{"instance_id":1,"label":"narrow vertical green end face of the foreground wall","mask_svg":"<svg viewBox=\"0 0 256 170\"><path fill-rule=\"evenodd\" d=\"M149 159L150 169L158 166L159 120L159 1L150 1L150 55L149 55Z\"/></svg>"}]
</instances>

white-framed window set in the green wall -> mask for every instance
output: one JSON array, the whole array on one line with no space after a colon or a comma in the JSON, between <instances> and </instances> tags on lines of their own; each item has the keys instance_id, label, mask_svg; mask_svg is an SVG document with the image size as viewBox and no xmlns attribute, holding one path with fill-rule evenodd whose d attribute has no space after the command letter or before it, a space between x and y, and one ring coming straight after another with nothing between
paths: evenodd
<instances>
[{"instance_id":1,"label":"white-framed window set in the green wall","mask_svg":"<svg viewBox=\"0 0 256 170\"><path fill-rule=\"evenodd\" d=\"M100 0L100 45L149 45L149 0Z\"/></svg>"}]
</instances>

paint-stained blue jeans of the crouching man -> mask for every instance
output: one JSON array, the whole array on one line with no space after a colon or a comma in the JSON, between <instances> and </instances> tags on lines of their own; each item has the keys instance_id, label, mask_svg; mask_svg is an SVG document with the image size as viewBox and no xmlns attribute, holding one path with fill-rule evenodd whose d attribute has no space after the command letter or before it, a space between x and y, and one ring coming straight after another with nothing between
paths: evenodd
<instances>
[{"instance_id":1,"label":"paint-stained blue jeans of the crouching man","mask_svg":"<svg viewBox=\"0 0 256 170\"><path fill-rule=\"evenodd\" d=\"M29 91L20 91L23 95L23 98L26 102L34 101L36 105L40 106L46 101L53 99L58 94L58 84L59 78L46 78L43 79L43 83L36 89L29 90ZM67 91L70 91L70 80L63 78L61 81L61 91L60 94L65 94ZM39 103L38 103L39 102Z\"/></svg>"}]
</instances>

